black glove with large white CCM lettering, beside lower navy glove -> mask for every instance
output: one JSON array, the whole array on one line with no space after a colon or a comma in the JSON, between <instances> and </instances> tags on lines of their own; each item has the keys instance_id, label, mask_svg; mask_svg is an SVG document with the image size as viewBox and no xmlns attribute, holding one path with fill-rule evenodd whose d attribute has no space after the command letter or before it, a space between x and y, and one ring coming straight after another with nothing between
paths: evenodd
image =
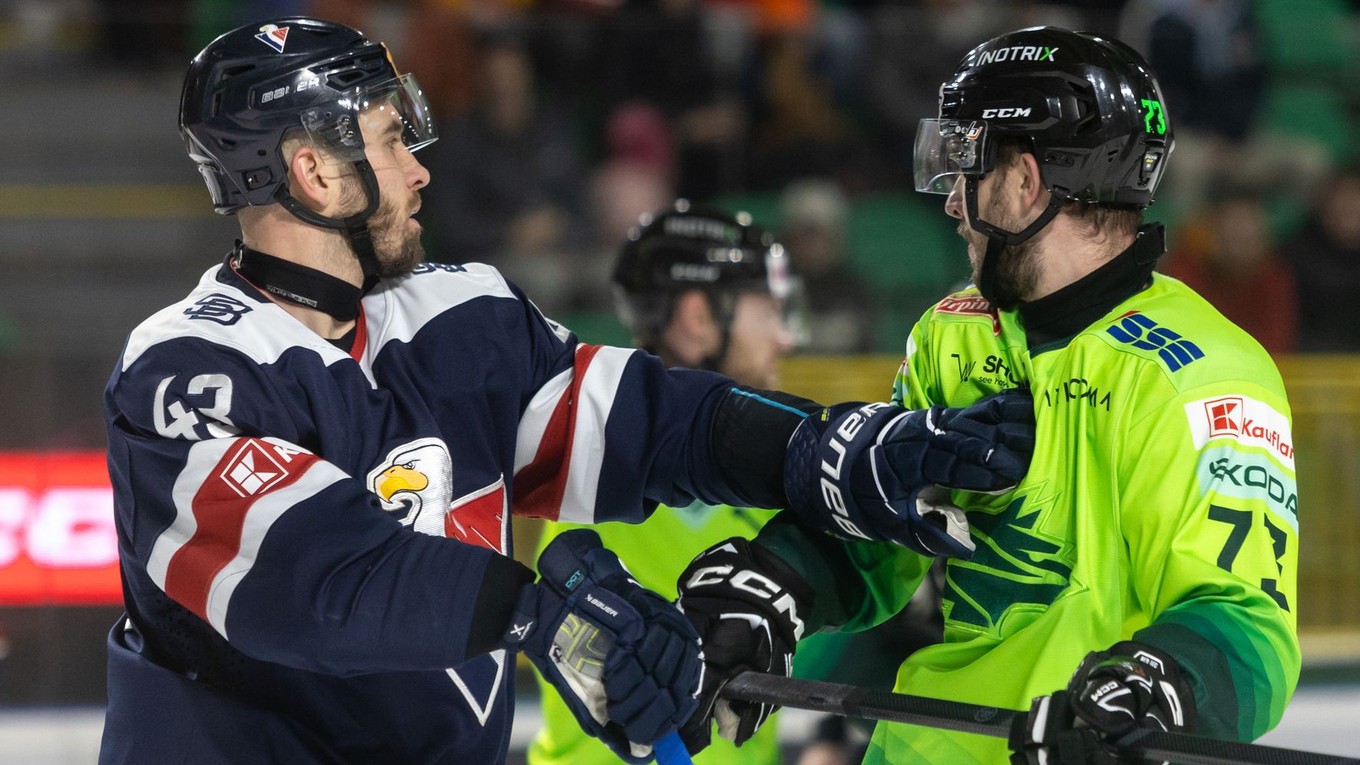
<instances>
[{"instance_id":1,"label":"black glove with large white CCM lettering, beside lower navy glove","mask_svg":"<svg viewBox=\"0 0 1360 765\"><path fill-rule=\"evenodd\" d=\"M681 726L680 738L698 754L717 721L718 735L741 746L778 706L728 701L718 691L747 670L789 677L812 587L774 553L734 536L691 561L677 589L704 662L699 709Z\"/></svg>"}]
</instances>

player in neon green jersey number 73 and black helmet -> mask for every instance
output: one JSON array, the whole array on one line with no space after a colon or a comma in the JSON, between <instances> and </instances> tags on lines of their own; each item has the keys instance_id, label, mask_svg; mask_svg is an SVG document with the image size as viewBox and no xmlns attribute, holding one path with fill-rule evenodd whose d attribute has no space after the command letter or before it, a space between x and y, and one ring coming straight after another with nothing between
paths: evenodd
<instances>
[{"instance_id":1,"label":"player in neon green jersey number 73 and black helmet","mask_svg":"<svg viewBox=\"0 0 1360 765\"><path fill-rule=\"evenodd\" d=\"M1299 675L1289 404L1255 340L1153 272L1163 231L1142 210L1171 148L1141 56L1053 27L974 49L922 121L917 188L948 193L975 286L913 328L895 403L963 406L1027 387L1038 432L1012 490L887 501L904 515L944 498L966 510L959 544L934 550L951 555L944 642L911 655L896 689L1032 711L1009 746L880 723L866 762L1114 762L1111 742L1136 728L1251 740L1280 721ZM819 509L831 534L781 515L681 574L710 694L740 662L711 659L725 637L706 633L704 614L864 629L923 576L919 550L854 540L869 536L861 508L885 500L872 460L839 468L872 453L884 411L831 407L794 433L801 456L792 448L786 468L820 461L824 475L790 494L789 515L806 524ZM715 566L766 577L794 602L718 591Z\"/></svg>"}]
</instances>

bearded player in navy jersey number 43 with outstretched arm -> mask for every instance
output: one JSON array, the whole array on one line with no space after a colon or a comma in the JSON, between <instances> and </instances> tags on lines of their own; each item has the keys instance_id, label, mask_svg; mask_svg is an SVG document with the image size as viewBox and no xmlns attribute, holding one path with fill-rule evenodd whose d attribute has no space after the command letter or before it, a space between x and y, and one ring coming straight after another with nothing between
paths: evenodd
<instances>
[{"instance_id":1,"label":"bearded player in navy jersey number 43 with outstretched arm","mask_svg":"<svg viewBox=\"0 0 1360 765\"><path fill-rule=\"evenodd\" d=\"M695 709L694 629L590 530L536 579L511 513L834 493L830 525L956 551L962 513L917 491L1001 489L1028 463L1024 395L832 418L582 344L494 268L426 264L428 108L350 27L224 34L180 127L242 241L132 332L105 391L128 614L103 764L500 762L515 651L642 762ZM824 446L786 460L809 417Z\"/></svg>"}]
</instances>

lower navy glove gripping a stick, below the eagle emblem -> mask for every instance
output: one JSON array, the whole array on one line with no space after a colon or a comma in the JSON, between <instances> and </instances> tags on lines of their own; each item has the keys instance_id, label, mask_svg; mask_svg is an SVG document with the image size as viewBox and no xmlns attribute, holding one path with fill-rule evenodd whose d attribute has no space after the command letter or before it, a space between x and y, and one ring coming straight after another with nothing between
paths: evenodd
<instances>
[{"instance_id":1,"label":"lower navy glove gripping a stick, below the eagle emblem","mask_svg":"<svg viewBox=\"0 0 1360 765\"><path fill-rule=\"evenodd\" d=\"M539 574L502 645L524 651L586 732L628 762L651 760L651 745L699 704L699 636L588 528L548 543Z\"/></svg>"}]
</instances>

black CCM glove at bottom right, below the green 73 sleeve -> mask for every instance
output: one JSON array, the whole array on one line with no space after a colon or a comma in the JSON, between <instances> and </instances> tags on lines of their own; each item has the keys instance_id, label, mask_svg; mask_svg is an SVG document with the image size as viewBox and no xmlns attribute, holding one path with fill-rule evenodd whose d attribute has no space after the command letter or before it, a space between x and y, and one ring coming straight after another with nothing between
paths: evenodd
<instances>
[{"instance_id":1,"label":"black CCM glove at bottom right, below the green 73 sleeve","mask_svg":"<svg viewBox=\"0 0 1360 765\"><path fill-rule=\"evenodd\" d=\"M1030 713L1016 717L1010 762L1114 765L1121 760L1112 742L1121 736L1176 731L1194 719L1194 691L1175 659L1126 640L1088 653L1066 690L1035 698Z\"/></svg>"}]
</instances>

